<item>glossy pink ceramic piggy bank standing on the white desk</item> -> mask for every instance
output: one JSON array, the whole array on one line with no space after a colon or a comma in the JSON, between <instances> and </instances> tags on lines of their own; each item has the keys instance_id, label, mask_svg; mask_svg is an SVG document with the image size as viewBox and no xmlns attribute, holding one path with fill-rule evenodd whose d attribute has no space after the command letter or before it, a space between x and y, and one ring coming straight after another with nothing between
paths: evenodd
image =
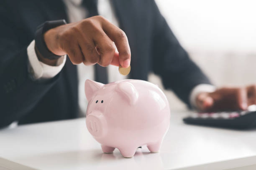
<instances>
[{"instance_id":1,"label":"glossy pink ceramic piggy bank standing on the white desk","mask_svg":"<svg viewBox=\"0 0 256 170\"><path fill-rule=\"evenodd\" d=\"M131 158L141 145L152 153L159 151L169 128L170 109L158 86L143 80L106 85L86 80L85 95L86 126L104 153L118 148L123 157Z\"/></svg>"}]
</instances>

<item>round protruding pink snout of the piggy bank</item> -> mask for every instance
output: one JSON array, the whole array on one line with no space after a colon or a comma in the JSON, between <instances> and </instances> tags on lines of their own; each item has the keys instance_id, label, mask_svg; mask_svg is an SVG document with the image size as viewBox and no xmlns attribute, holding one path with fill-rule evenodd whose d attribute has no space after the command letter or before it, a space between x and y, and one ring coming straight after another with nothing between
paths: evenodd
<instances>
[{"instance_id":1,"label":"round protruding pink snout of the piggy bank","mask_svg":"<svg viewBox=\"0 0 256 170\"><path fill-rule=\"evenodd\" d=\"M107 133L107 122L99 111L92 111L86 117L86 127L95 138L102 138Z\"/></svg>"}]
</instances>

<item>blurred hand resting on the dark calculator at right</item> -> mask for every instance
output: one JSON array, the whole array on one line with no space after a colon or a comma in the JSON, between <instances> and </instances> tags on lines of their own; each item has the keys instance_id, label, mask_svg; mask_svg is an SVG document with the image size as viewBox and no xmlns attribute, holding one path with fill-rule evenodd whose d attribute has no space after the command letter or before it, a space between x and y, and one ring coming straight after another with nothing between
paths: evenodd
<instances>
[{"instance_id":1,"label":"blurred hand resting on the dark calculator at right","mask_svg":"<svg viewBox=\"0 0 256 170\"><path fill-rule=\"evenodd\" d=\"M246 110L256 104L256 85L222 87L215 92L200 93L196 98L200 111Z\"/></svg>"}]
</instances>

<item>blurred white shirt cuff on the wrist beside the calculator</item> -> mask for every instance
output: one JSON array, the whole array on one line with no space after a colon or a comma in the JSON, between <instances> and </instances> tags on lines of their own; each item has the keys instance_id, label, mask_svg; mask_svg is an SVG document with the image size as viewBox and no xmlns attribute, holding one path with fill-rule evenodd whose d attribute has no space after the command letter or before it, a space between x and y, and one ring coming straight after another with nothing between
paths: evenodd
<instances>
[{"instance_id":1,"label":"blurred white shirt cuff on the wrist beside the calculator","mask_svg":"<svg viewBox=\"0 0 256 170\"><path fill-rule=\"evenodd\" d=\"M189 101L192 107L197 109L197 95L199 95L202 92L214 92L216 90L216 87L214 85L209 85L209 84L200 84L195 86L190 93L189 96Z\"/></svg>"}]
</instances>

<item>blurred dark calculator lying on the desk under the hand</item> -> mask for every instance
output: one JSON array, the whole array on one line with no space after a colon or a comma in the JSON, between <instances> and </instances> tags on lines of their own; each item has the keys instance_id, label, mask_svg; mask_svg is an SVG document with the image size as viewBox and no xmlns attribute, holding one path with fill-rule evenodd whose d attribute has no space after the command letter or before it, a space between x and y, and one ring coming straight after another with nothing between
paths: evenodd
<instances>
[{"instance_id":1,"label":"blurred dark calculator lying on the desk under the hand","mask_svg":"<svg viewBox=\"0 0 256 170\"><path fill-rule=\"evenodd\" d=\"M215 126L221 128L256 128L256 105L247 110L228 112L195 112L183 118L187 124Z\"/></svg>"}]
</instances>

